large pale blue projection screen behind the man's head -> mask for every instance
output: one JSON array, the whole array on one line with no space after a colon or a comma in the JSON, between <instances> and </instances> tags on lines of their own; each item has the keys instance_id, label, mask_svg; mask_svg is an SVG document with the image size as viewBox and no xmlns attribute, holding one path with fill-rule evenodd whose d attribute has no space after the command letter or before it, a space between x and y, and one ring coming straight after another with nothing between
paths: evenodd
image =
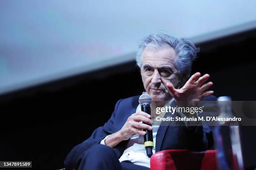
<instances>
[{"instance_id":1,"label":"large pale blue projection screen behind the man's head","mask_svg":"<svg viewBox=\"0 0 256 170\"><path fill-rule=\"evenodd\" d=\"M253 0L2 0L0 94L135 59L164 31L195 43L256 28Z\"/></svg>"}]
</instances>

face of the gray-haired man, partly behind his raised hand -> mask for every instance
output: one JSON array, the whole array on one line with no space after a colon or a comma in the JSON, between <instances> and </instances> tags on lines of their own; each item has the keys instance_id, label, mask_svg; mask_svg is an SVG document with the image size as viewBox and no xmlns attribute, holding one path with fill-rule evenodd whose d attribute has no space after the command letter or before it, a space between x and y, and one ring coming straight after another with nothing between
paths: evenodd
<instances>
[{"instance_id":1,"label":"face of the gray-haired man, partly behind his raised hand","mask_svg":"<svg viewBox=\"0 0 256 170\"><path fill-rule=\"evenodd\" d=\"M178 71L174 67L175 60L176 53L172 47L161 47L159 50L146 47L143 51L141 77L153 101L171 99L166 88L167 82L172 82L175 88L180 86Z\"/></svg>"}]
</instances>

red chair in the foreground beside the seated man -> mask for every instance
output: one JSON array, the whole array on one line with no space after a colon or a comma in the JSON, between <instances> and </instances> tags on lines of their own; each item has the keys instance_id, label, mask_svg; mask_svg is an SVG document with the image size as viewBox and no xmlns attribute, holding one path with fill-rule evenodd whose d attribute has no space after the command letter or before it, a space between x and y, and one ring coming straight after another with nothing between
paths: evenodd
<instances>
[{"instance_id":1,"label":"red chair in the foreground beside the seated man","mask_svg":"<svg viewBox=\"0 0 256 170\"><path fill-rule=\"evenodd\" d=\"M217 170L216 150L162 150L151 156L151 170Z\"/></svg>"}]
</instances>

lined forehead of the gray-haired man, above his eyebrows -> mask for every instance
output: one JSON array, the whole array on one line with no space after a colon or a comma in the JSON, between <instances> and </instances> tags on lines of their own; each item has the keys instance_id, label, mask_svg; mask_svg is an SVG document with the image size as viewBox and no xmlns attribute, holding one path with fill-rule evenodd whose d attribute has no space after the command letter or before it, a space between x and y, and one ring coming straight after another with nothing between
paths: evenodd
<instances>
[{"instance_id":1,"label":"lined forehead of the gray-haired man, above his eyebrows","mask_svg":"<svg viewBox=\"0 0 256 170\"><path fill-rule=\"evenodd\" d=\"M146 47L142 53L142 67L146 64L152 67L173 67L175 61L176 52L172 47L161 47L157 50Z\"/></svg>"}]
</instances>

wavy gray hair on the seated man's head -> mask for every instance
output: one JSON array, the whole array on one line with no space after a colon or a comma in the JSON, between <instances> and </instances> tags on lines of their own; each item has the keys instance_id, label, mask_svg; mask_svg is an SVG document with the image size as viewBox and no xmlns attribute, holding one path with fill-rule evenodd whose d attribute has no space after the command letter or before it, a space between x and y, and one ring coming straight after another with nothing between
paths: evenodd
<instances>
[{"instance_id":1,"label":"wavy gray hair on the seated man's head","mask_svg":"<svg viewBox=\"0 0 256 170\"><path fill-rule=\"evenodd\" d=\"M181 38L177 39L170 35L164 33L154 33L148 35L141 44L138 46L138 52L136 54L136 62L139 67L141 67L141 55L146 47L159 50L159 48L164 46L173 47L177 60L174 65L180 75L190 77L192 62L197 58L197 52L199 48L196 47L190 40Z\"/></svg>"}]
</instances>

